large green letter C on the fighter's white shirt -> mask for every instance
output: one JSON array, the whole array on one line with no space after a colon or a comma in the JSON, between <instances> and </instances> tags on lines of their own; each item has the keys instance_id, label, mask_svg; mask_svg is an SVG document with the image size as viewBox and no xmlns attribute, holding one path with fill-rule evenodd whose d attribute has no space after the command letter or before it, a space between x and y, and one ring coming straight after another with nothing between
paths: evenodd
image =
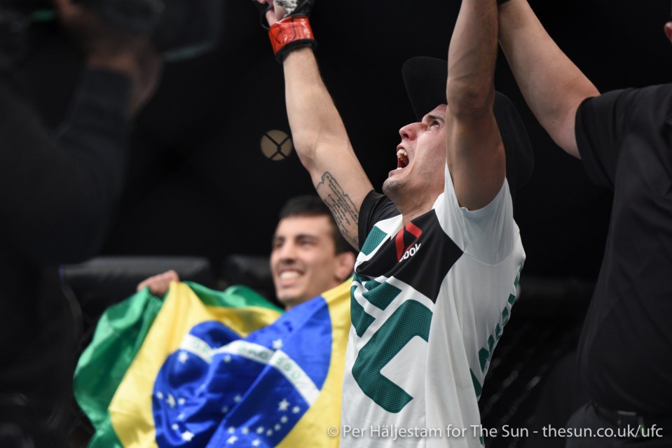
<instances>
[{"instance_id":1,"label":"large green letter C on the fighter's white shirt","mask_svg":"<svg viewBox=\"0 0 672 448\"><path fill-rule=\"evenodd\" d=\"M352 303L355 302L353 299ZM355 321L352 323L354 325ZM401 411L413 397L380 371L413 337L421 337L427 342L431 323L430 309L417 300L406 300L357 353L352 377L366 396L388 412Z\"/></svg>"}]
</instances>

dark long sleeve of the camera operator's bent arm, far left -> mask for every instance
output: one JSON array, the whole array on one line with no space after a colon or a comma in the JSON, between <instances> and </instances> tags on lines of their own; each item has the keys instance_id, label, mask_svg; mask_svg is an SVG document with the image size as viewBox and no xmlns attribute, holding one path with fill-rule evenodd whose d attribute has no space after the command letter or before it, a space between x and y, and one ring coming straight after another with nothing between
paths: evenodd
<instances>
[{"instance_id":1,"label":"dark long sleeve of the camera operator's bent arm, far left","mask_svg":"<svg viewBox=\"0 0 672 448\"><path fill-rule=\"evenodd\" d=\"M83 260L102 244L123 183L130 80L88 70L57 137L0 66L0 231L41 262Z\"/></svg>"}]
</instances>

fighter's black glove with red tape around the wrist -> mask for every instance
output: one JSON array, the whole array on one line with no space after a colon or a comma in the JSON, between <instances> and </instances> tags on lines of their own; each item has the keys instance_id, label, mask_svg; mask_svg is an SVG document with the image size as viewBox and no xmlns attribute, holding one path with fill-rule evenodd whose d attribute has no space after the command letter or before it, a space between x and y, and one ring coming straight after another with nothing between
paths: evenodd
<instances>
[{"instance_id":1,"label":"fighter's black glove with red tape around the wrist","mask_svg":"<svg viewBox=\"0 0 672 448\"><path fill-rule=\"evenodd\" d=\"M317 41L308 22L315 0L275 0L275 3L286 11L282 20L268 28L268 38L277 62L282 64L285 55L296 48L310 47L315 50Z\"/></svg>"}]
</instances>

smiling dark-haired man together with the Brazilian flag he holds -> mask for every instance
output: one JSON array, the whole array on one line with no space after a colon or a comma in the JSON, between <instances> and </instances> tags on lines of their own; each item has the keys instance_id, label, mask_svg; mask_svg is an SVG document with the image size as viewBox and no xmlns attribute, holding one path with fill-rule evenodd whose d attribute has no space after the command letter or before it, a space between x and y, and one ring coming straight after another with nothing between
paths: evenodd
<instances>
[{"instance_id":1,"label":"smiling dark-haired man together with the Brazilian flag he holds","mask_svg":"<svg viewBox=\"0 0 672 448\"><path fill-rule=\"evenodd\" d=\"M94 422L90 446L109 447L120 437L124 446L140 440L142 446L338 447L327 428L341 412L350 328L344 281L354 262L324 202L301 196L285 204L273 236L273 281L287 312L241 286L223 293L195 283L171 286L179 281L174 271L140 283L138 294L104 314L80 358L77 398L92 422L105 400L99 391L116 390L102 409L114 430ZM167 295L157 300L144 288ZM123 311L139 304L160 311ZM149 328L146 336L138 336L138 326ZM141 347L132 363L119 356L129 345ZM98 382L108 360L116 375Z\"/></svg>"}]
</instances>

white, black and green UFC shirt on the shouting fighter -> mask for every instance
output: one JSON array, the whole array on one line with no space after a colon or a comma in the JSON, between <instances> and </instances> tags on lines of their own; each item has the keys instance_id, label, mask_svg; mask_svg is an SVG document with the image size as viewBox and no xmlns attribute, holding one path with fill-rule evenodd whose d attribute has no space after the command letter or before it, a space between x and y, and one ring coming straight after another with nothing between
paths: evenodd
<instances>
[{"instance_id":1,"label":"white, black and green UFC shirt on the shouting fighter","mask_svg":"<svg viewBox=\"0 0 672 448\"><path fill-rule=\"evenodd\" d=\"M446 188L402 227L369 193L359 216L341 447L480 447L477 400L525 260L505 181L483 209Z\"/></svg>"}]
</instances>

